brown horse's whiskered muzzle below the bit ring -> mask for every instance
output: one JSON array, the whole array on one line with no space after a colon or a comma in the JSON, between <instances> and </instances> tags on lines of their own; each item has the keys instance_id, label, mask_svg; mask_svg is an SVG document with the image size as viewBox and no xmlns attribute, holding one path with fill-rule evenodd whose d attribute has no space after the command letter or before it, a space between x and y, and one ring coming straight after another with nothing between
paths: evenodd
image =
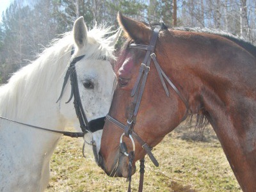
<instances>
[{"instance_id":1,"label":"brown horse's whiskered muzzle below the bit ring","mask_svg":"<svg viewBox=\"0 0 256 192\"><path fill-rule=\"evenodd\" d=\"M99 152L99 166L109 177L128 177L128 158L118 152L112 161L104 161ZM132 164L132 175L136 172L136 166Z\"/></svg>"}]
</instances>

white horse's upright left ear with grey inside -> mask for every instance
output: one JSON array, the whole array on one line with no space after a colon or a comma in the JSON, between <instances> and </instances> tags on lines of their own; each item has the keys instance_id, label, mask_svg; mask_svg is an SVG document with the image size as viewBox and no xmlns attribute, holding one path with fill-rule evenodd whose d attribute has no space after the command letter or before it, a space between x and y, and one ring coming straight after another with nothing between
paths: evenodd
<instances>
[{"instance_id":1,"label":"white horse's upright left ear with grey inside","mask_svg":"<svg viewBox=\"0 0 256 192\"><path fill-rule=\"evenodd\" d=\"M74 40L77 47L82 48L86 44L87 31L88 30L84 23L84 17L79 17L75 21L73 28Z\"/></svg>"}]
</instances>

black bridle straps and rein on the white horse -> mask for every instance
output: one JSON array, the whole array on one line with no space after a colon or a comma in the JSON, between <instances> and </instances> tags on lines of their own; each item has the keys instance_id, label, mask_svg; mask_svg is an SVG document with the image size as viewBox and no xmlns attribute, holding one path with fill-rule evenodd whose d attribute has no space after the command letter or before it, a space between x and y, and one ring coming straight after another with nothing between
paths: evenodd
<instances>
[{"instance_id":1,"label":"black bridle straps and rein on the white horse","mask_svg":"<svg viewBox=\"0 0 256 192\"><path fill-rule=\"evenodd\" d=\"M74 54L74 47L72 47L71 56L73 54ZM40 130L48 131L48 132L55 132L55 133L58 133L58 134L63 134L64 136L69 136L71 138L83 138L86 133L90 133L92 135L92 132L90 131L90 124L88 124L88 120L87 120L86 115L84 113L83 105L82 105L80 94L79 94L78 83L77 83L76 63L78 61L82 60L84 58L84 56L85 55L78 56L78 57L73 58L73 59L70 60L69 67L68 67L66 75L64 77L64 82L63 82L63 86L62 86L62 89L61 89L60 97L57 100L57 102L58 102L61 99L61 97L63 95L63 92L64 92L64 88L65 88L65 86L68 82L68 78L70 77L71 94L70 94L70 98L68 99L66 104L68 102L70 102L70 100L74 96L74 108L76 109L76 115L77 115L77 118L79 119L80 127L81 127L83 132L57 131L57 130L52 130L52 129L46 129L46 128L43 128L43 127L38 127L38 126L35 126L35 125L24 124L22 122L17 122L15 120L11 120L11 119L3 117L3 116L0 116L0 118L4 119L4 120L8 120L10 122L15 122L16 124L25 125L27 127L32 127L32 128L35 128L35 129L40 129ZM92 141L90 141L90 143L84 139L83 156L84 156L84 145L85 145L85 143L87 143L88 145L92 145L93 154L94 154L94 156L95 156L95 154L97 155L97 148L96 148L96 143L93 140L93 135L92 135ZM95 161L97 163L99 162L98 156L95 156Z\"/></svg>"}]
</instances>

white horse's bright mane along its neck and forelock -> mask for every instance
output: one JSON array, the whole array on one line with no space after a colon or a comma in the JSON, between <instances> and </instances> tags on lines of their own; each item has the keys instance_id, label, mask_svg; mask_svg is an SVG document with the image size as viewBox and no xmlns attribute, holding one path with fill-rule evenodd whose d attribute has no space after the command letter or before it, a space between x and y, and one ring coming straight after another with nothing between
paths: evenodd
<instances>
[{"instance_id":1,"label":"white horse's bright mane along its neck and forelock","mask_svg":"<svg viewBox=\"0 0 256 192\"><path fill-rule=\"evenodd\" d=\"M103 56L114 59L113 47L109 47L108 39L104 38L112 32L102 26L95 26L88 31L88 43L92 46L86 51L84 59L93 60ZM22 118L29 111L29 107L33 106L28 105L28 102L37 102L37 98L47 97L47 90L52 81L63 81L71 47L75 44L71 32L61 36L62 38L52 40L51 45L39 54L35 61L15 72L8 83L0 87L0 115ZM74 56L78 56L76 54L75 52Z\"/></svg>"}]
</instances>

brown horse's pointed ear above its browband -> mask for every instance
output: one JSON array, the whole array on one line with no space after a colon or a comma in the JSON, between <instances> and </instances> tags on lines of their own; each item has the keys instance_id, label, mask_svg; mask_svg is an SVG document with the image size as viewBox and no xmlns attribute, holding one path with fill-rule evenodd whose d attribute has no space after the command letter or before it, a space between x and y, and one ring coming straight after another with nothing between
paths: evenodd
<instances>
[{"instance_id":1,"label":"brown horse's pointed ear above its browband","mask_svg":"<svg viewBox=\"0 0 256 192\"><path fill-rule=\"evenodd\" d=\"M117 13L117 20L119 25L124 30L127 38L131 38L138 44L149 42L152 30L148 28L148 26L142 22L129 19L128 17L123 16L120 12Z\"/></svg>"}]
</instances>

